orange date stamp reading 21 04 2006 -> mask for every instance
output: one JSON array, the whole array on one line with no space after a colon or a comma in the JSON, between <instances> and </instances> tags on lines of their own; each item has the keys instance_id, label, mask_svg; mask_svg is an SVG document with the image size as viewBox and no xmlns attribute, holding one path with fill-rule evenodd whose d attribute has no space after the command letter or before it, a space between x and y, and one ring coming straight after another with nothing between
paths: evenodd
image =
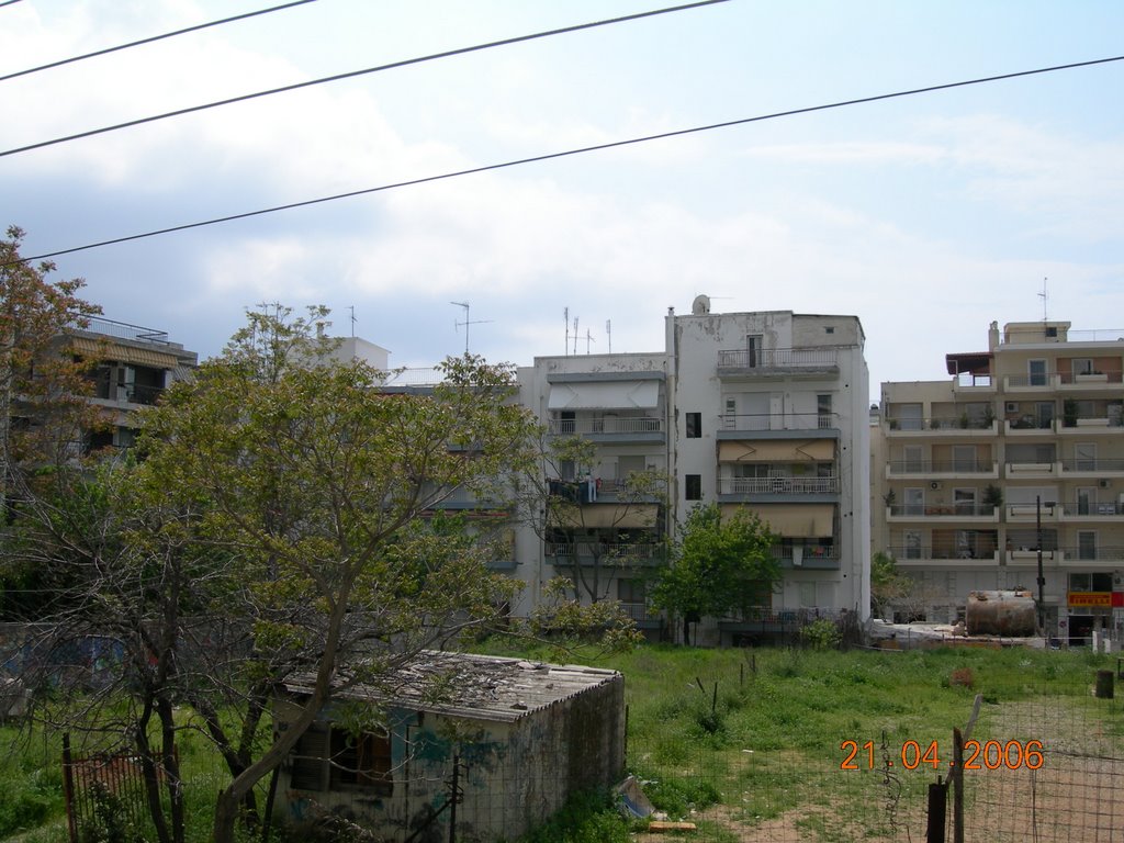
<instances>
[{"instance_id":1,"label":"orange date stamp reading 21 04 2006","mask_svg":"<svg viewBox=\"0 0 1124 843\"><path fill-rule=\"evenodd\" d=\"M840 770L873 770L900 764L906 770L927 765L934 770L941 767L941 751L936 741L922 744L905 741L900 746L876 746L873 741L859 743L844 741L840 744L843 761ZM878 752L876 753L876 750ZM891 751L897 750L896 752ZM1041 741L964 741L964 770L1039 770L1045 762L1045 747ZM876 754L878 758L876 758ZM876 763L880 761L880 763ZM952 762L949 762L952 767Z\"/></svg>"}]
</instances>

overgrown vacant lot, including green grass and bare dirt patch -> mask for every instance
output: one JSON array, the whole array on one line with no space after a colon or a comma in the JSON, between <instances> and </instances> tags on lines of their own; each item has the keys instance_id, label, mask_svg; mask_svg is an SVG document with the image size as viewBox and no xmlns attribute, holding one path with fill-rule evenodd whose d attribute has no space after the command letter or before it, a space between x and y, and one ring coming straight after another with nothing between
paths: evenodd
<instances>
[{"instance_id":1,"label":"overgrown vacant lot, including green grass and bare dirt patch","mask_svg":"<svg viewBox=\"0 0 1124 843\"><path fill-rule=\"evenodd\" d=\"M997 743L966 777L967 840L1124 837L1124 688L1116 699L1090 692L1098 670L1115 671L1115 656L645 646L565 658L625 674L629 772L671 818L696 823L690 840L925 840L928 785L948 776L952 729L967 725L977 694L984 704L971 737L981 750ZM218 764L198 736L183 737L189 804L205 815ZM21 745L0 761L0 840L35 827L43 831L25 840L65 840L57 736ZM842 769L846 761L858 769ZM668 840L589 813L536 840ZM192 841L206 840L202 819L189 817Z\"/></svg>"}]
</instances>

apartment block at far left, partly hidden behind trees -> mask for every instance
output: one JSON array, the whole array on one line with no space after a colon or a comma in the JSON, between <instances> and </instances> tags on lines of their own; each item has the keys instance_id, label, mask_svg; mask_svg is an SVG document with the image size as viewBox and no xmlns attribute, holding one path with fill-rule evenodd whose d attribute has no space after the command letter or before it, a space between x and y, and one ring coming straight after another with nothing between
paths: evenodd
<instances>
[{"instance_id":1,"label":"apartment block at far left, partly hidden behind trees","mask_svg":"<svg viewBox=\"0 0 1124 843\"><path fill-rule=\"evenodd\" d=\"M199 361L196 352L169 342L167 333L94 317L83 330L71 330L69 350L97 360L91 372L91 404L107 425L87 436L87 450L128 447L136 434L135 413L156 404L173 382L189 377Z\"/></svg>"}]
</instances>

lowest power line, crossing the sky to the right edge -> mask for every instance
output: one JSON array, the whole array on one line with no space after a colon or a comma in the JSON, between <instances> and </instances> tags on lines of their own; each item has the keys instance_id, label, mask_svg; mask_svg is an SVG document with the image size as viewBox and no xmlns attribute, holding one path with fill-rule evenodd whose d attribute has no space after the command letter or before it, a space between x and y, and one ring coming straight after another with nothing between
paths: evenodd
<instances>
[{"instance_id":1,"label":"lowest power line, crossing the sky to the right edge","mask_svg":"<svg viewBox=\"0 0 1124 843\"><path fill-rule=\"evenodd\" d=\"M611 140L605 144L595 144L592 146L582 146L574 149L565 149L563 152L552 152L543 155L533 155L525 158L516 158L513 161L505 161L498 164L483 164L481 166L468 167L465 170L456 170L448 173L441 173L438 175L426 175L419 179L408 179L406 181L392 182L390 184L381 184L374 188L363 188L361 190L352 190L346 193L335 193L334 196L319 197L317 199L306 199L299 202L290 202L288 205L278 205L272 208L262 208L260 210L244 211L242 214L232 214L226 217L215 217L212 219L207 219L198 223L185 223L183 225L171 226L169 228L157 228L152 232L145 232L143 234L132 234L125 237L115 237L108 241L99 241L97 243L90 243L84 246L73 246L71 248L63 248L56 252L46 252L40 255L35 255L33 257L21 259L24 262L30 261L42 261L47 257L57 257L58 255L67 255L74 252L84 252L91 248L100 248L102 246L111 246L118 243L128 243L129 241L145 239L147 237L156 237L164 234L172 234L174 232L184 232L191 228L203 228L206 226L218 225L220 223L232 223L237 219L247 219L250 217L261 217L266 214L277 214L278 211L292 210L294 208L306 208L311 205L321 205L324 202L334 202L339 199L351 199L352 197L365 196L369 193L379 193L386 190L395 190L397 188L408 188L417 184L426 184L435 181L444 181L446 179L456 179L462 175L473 175L475 173L486 173L492 170L504 170L513 166L520 166L523 164L534 164L543 161L552 161L554 158L564 158L572 155L581 155L590 152L600 152L602 149L613 149L620 146L632 146L635 144L643 144L651 140L662 140L670 137L680 137L683 135L692 135L700 132L710 132L714 129L729 128L732 126L744 126L751 123L762 123L764 120L776 120L781 117L795 117L797 115L813 114L815 111L826 111L835 108L843 108L846 106L859 106L869 102L879 102L882 100L897 99L900 97L913 97L922 93L933 93L935 91L946 91L953 88L964 88L968 85L985 84L988 82L999 82L1007 79L1018 79L1021 76L1033 76L1042 73L1054 73L1057 71L1073 70L1077 67L1090 67L1098 64L1108 64L1111 62L1124 61L1124 55L1113 56L1111 58L1095 58L1088 62L1073 62L1071 64L1059 64L1051 67L1039 67L1036 70L1028 71L1017 71L1015 73L1003 73L997 76L981 76L979 79L970 79L961 82L946 82L944 84L928 85L926 88L914 88L907 91L895 91L892 93L879 93L872 97L860 97L850 100L840 100L837 102L828 102L821 106L807 106L805 108L794 108L787 111L774 111L768 115L759 115L756 117L744 117L736 120L725 120L723 123L713 123L706 126L695 126L687 129L674 129L672 132L662 132L656 135L644 135L643 137L634 137L625 140ZM0 265L12 265L12 263L0 264Z\"/></svg>"}]
</instances>

